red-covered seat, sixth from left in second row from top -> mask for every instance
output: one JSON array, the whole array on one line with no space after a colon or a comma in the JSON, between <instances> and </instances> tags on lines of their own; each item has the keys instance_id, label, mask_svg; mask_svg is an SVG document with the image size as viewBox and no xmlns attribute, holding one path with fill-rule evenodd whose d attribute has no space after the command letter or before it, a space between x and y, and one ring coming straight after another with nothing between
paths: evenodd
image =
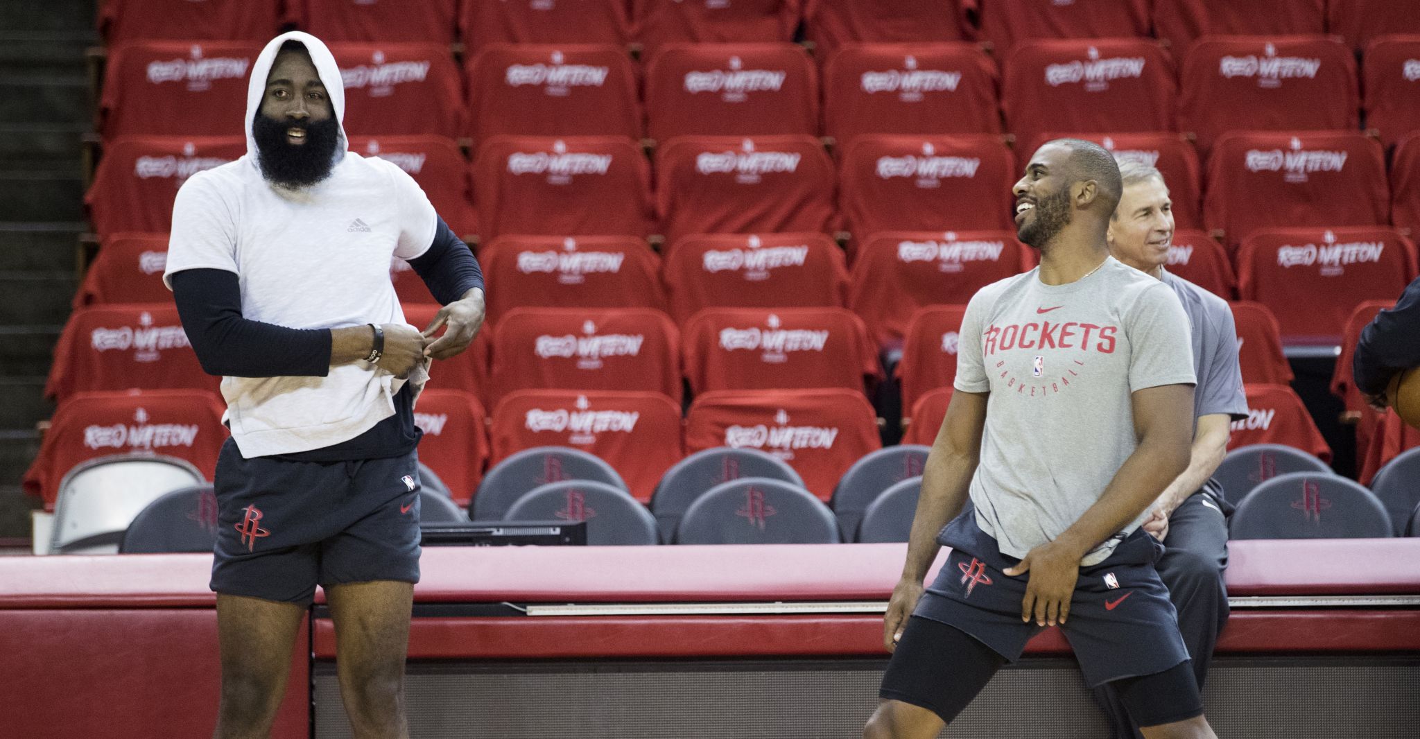
<instances>
[{"instance_id":1,"label":"red-covered seat, sixth from left in second row from top","mask_svg":"<svg viewBox=\"0 0 1420 739\"><path fill-rule=\"evenodd\" d=\"M1176 94L1173 60L1145 38L1028 41L1001 70L1005 128L1020 140L1048 130L1173 130Z\"/></svg>"}]
</instances>

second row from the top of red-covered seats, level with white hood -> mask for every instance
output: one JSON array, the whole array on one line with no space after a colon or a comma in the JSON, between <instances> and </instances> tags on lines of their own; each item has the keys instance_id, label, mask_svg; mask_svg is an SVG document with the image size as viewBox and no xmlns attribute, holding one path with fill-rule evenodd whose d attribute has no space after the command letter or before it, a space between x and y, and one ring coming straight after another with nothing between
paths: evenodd
<instances>
[{"instance_id":1,"label":"second row from the top of red-covered seats, level with white hood","mask_svg":"<svg viewBox=\"0 0 1420 739\"><path fill-rule=\"evenodd\" d=\"M104 136L240 135L258 51L243 43L118 47L101 101ZM1210 37L1177 74L1159 44L1125 38L1025 44L1000 75L967 44L852 47L824 68L822 113L821 75L795 44L666 47L646 64L645 84L622 50L605 45L491 45L469 60L467 82L435 44L335 44L332 52L349 133L474 142L1000 133L1004 112L1004 129L1030 149L1052 133L1183 130L1207 152L1237 129L1355 129L1360 108L1356 62L1328 37ZM1365 57L1366 126L1387 146L1420 126L1407 67L1417 54L1420 34L1377 40Z\"/></svg>"}]
</instances>

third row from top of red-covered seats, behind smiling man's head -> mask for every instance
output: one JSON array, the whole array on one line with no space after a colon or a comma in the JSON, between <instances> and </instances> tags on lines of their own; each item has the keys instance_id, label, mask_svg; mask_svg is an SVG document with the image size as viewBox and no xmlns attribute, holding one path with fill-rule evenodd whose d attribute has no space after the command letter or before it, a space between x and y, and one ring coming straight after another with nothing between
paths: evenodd
<instances>
[{"instance_id":1,"label":"third row from top of red-covered seats, behind smiling man's head","mask_svg":"<svg viewBox=\"0 0 1420 739\"><path fill-rule=\"evenodd\" d=\"M1176 135L1145 136L1099 140L1120 160L1159 165L1177 226L1220 230L1230 250L1267 227L1420 226L1420 136L1396 149L1392 186L1380 145L1362 133L1228 133L1208 160L1201 217L1191 150ZM991 135L863 136L836 166L808 136L683 136L657 146L653 189L632 139L497 136L471 166L446 139L352 145L405 167L450 226L483 240L1010 230L1020 167ZM114 142L85 199L97 231L166 231L186 177L244 152L229 138Z\"/></svg>"}]
</instances>

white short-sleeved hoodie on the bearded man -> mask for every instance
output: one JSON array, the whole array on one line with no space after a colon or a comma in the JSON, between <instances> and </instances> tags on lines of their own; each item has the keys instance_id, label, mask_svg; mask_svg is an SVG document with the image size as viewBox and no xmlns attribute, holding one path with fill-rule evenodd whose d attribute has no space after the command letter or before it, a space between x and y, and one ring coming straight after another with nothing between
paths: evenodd
<instances>
[{"instance_id":1,"label":"white short-sleeved hoodie on the bearded man","mask_svg":"<svg viewBox=\"0 0 1420 739\"><path fill-rule=\"evenodd\" d=\"M435 209L398 166L346 150L320 183L287 190L261 176L251 122L288 40L305 44L337 121L345 89L335 57L314 35L281 34L257 57L247 87L247 155L193 174L178 191L163 281L183 270L236 272L241 315L297 329L403 323L390 257L412 260L435 237ZM373 365L325 377L223 377L226 421L243 457L294 454L351 440L395 413L403 380Z\"/></svg>"}]
</instances>

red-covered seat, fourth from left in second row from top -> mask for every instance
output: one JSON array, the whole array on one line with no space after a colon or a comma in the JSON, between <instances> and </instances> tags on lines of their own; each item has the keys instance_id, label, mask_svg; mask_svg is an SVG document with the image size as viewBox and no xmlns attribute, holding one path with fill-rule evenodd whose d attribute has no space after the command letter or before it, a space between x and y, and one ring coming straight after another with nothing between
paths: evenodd
<instances>
[{"instance_id":1,"label":"red-covered seat, fourth from left in second row from top","mask_svg":"<svg viewBox=\"0 0 1420 739\"><path fill-rule=\"evenodd\" d=\"M778 133L818 133L818 75L804 47L673 44L646 65L652 139Z\"/></svg>"}]
</instances>

